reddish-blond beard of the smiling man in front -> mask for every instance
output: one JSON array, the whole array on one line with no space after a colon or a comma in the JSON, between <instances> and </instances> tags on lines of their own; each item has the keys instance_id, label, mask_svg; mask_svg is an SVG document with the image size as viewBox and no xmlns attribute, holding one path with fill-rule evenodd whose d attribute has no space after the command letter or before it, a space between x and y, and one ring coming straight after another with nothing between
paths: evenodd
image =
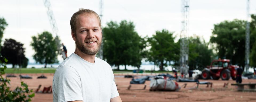
<instances>
[{"instance_id":1,"label":"reddish-blond beard of the smiling man in front","mask_svg":"<svg viewBox=\"0 0 256 102\"><path fill-rule=\"evenodd\" d=\"M93 47L95 45L86 45L86 42L89 42L89 40L88 41L85 40L85 41L83 41L83 43L80 43L79 41L76 40L75 45L84 54L95 55L99 52L99 49L101 47L101 41L98 41L98 40L96 41L96 43L97 43L96 49L90 49L90 47Z\"/></svg>"}]
</instances>

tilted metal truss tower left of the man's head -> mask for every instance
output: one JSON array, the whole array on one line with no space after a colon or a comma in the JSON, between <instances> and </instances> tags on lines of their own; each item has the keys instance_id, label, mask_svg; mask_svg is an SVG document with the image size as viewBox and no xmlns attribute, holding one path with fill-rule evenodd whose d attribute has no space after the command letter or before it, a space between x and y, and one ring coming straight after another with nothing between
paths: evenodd
<instances>
[{"instance_id":1,"label":"tilted metal truss tower left of the man's head","mask_svg":"<svg viewBox=\"0 0 256 102\"><path fill-rule=\"evenodd\" d=\"M56 35L55 42L56 42L57 47L58 47L58 52L60 54L62 54L62 58L65 60L66 55L64 55L61 51L61 46L62 45L60 43L61 41L60 41L59 36L58 36L59 30L58 30L58 27L57 27L57 24L56 24L54 15L53 15L53 11L51 10L51 3L48 0L45 0L45 7L47 8L47 15L48 15L48 18L50 20L51 28L53 29L53 33Z\"/></svg>"}]
</instances>

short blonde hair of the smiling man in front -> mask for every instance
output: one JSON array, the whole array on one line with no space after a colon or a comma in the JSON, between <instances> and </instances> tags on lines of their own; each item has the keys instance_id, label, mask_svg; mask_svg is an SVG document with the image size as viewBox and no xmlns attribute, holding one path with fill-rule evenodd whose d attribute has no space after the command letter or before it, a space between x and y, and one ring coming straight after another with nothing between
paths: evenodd
<instances>
[{"instance_id":1,"label":"short blonde hair of the smiling man in front","mask_svg":"<svg viewBox=\"0 0 256 102\"><path fill-rule=\"evenodd\" d=\"M99 18L99 15L96 12L94 12L93 10L89 10L89 9L79 8L79 10L77 12L75 12L70 19L71 32L75 33L77 17L81 14L84 14L84 15L94 14L98 18L99 27L101 28L101 19Z\"/></svg>"}]
</instances>

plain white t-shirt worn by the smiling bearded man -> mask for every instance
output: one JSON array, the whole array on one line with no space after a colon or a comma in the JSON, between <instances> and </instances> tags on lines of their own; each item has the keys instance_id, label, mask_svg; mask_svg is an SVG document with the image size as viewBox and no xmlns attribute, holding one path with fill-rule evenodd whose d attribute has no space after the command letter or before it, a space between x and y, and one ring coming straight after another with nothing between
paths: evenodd
<instances>
[{"instance_id":1,"label":"plain white t-shirt worn by the smiling bearded man","mask_svg":"<svg viewBox=\"0 0 256 102\"><path fill-rule=\"evenodd\" d=\"M53 76L53 102L110 102L117 96L110 65L97 57L90 63L73 53L58 66Z\"/></svg>"}]
</instances>

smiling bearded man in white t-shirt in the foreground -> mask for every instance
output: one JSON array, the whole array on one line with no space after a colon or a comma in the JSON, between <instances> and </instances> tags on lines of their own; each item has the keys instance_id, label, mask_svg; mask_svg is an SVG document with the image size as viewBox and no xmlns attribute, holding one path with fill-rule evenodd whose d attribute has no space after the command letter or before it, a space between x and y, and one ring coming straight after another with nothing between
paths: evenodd
<instances>
[{"instance_id":1,"label":"smiling bearded man in white t-shirt in the foreground","mask_svg":"<svg viewBox=\"0 0 256 102\"><path fill-rule=\"evenodd\" d=\"M101 20L94 11L79 9L70 20L75 52L53 77L54 102L122 102L110 65L95 57L102 41Z\"/></svg>"}]
</instances>

